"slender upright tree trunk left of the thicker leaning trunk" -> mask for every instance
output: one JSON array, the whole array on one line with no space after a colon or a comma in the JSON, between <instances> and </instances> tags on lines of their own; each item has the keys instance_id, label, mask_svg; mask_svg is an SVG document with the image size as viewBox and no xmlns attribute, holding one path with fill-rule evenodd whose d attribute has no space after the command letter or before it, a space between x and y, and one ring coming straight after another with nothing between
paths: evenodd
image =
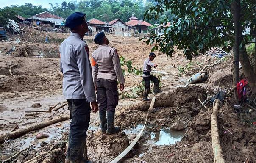
<instances>
[{"instance_id":1,"label":"slender upright tree trunk left of the thicker leaning trunk","mask_svg":"<svg viewBox=\"0 0 256 163\"><path fill-rule=\"evenodd\" d=\"M235 44L234 44L234 61L233 61L233 85L239 82L239 45L240 45L240 0L235 0L231 3L231 12L233 15L235 28ZM234 90L234 100L238 104L237 91Z\"/></svg>"}]
</instances>

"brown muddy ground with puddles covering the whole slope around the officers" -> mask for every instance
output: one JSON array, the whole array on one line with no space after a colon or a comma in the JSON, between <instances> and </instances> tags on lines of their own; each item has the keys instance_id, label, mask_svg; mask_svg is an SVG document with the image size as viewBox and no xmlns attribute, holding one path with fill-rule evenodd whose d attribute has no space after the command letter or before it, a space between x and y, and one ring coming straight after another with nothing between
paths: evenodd
<instances>
[{"instance_id":1,"label":"brown muddy ground with puddles covering the whole slope around the officers","mask_svg":"<svg viewBox=\"0 0 256 163\"><path fill-rule=\"evenodd\" d=\"M10 118L7 121L0 120L1 135L69 113L65 106L58 111L25 116L29 111L47 111L59 102L61 104L58 106L65 103L61 90L62 74L58 67L58 47L69 34L25 28L23 35L24 37L9 36L9 41L0 42L0 119ZM46 36L49 42L45 42ZM150 45L139 42L134 37L107 37L110 46L115 47L120 56L131 60L133 66L142 68L143 61L150 52ZM97 45L93 43L93 37L85 36L84 39L89 45L91 55ZM160 52L156 52L156 55L154 63L159 66L153 70L153 74L161 76L163 92L156 95L155 107L142 137L120 162L140 163L141 161L135 160L139 158L147 163L213 163L210 127L212 105L208 103L206 108L198 108L201 105L198 99L204 102L207 96L213 96L217 92L218 87L226 91L232 87L232 58L227 57L220 64L207 67L205 70L210 75L207 82L183 87L191 75L218 59L200 55L187 61L178 50L173 58L166 59ZM10 73L11 66L13 75ZM134 97L131 90L141 82L142 77L129 74L125 79L124 92L126 95L133 94ZM153 96L155 95L150 94L150 97ZM100 133L98 115L91 113L87 144L89 159L96 163L109 163L117 157L133 141L145 123L150 102L142 102L141 97L125 97L120 92L115 118L115 124L122 128L119 134L108 136ZM38 108L33 105L35 103L40 104ZM233 99L229 97L223 103L218 122L225 162L241 163L250 157L249 163L255 163L256 127L243 121L246 116L255 118L255 111L249 112L249 108L245 107L248 112L242 116L241 122L240 114L234 110ZM6 160L19 150L29 148L14 158L14 162L25 162L37 153L54 147L61 150L56 152L57 157L53 156L52 162L63 162L69 123L69 120L59 122L6 141L0 146L0 160ZM177 129L177 126L179 131L172 130ZM49 137L37 140L36 135L39 133ZM37 162L44 162L44 159Z\"/></svg>"}]
</instances>

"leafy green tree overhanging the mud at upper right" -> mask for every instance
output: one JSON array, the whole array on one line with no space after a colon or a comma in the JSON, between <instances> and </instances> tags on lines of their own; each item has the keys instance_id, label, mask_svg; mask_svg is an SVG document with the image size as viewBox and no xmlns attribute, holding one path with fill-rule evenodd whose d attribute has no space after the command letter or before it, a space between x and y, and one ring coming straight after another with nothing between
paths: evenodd
<instances>
[{"instance_id":1,"label":"leafy green tree overhanging the mud at upper right","mask_svg":"<svg viewBox=\"0 0 256 163\"><path fill-rule=\"evenodd\" d=\"M253 71L245 49L245 44L250 42L252 36L255 37L255 0L156 1L157 4L146 11L146 19L158 19L164 11L170 11L175 18L173 21L168 18L164 20L164 23L170 22L170 26L162 36L151 34L147 43L156 43L152 50L160 49L171 57L174 46L177 46L191 60L193 55L204 53L211 47L223 47L227 51L235 47L234 69L237 71L238 55L245 77L256 92L256 71ZM243 31L249 27L250 34L243 35ZM234 84L239 80L237 73L239 70L234 74Z\"/></svg>"}]
</instances>

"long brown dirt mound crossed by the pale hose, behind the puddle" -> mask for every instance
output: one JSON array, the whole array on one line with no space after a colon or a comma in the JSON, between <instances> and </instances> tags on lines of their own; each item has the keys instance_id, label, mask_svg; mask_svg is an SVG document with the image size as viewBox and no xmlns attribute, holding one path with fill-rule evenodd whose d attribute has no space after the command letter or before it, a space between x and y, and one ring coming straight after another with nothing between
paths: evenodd
<instances>
[{"instance_id":1,"label":"long brown dirt mound crossed by the pale hose, behind the puddle","mask_svg":"<svg viewBox=\"0 0 256 163\"><path fill-rule=\"evenodd\" d=\"M174 92L163 93L156 97L154 107L189 107L201 105L198 99L204 101L207 97L206 91L198 86L178 87ZM141 102L129 109L147 110L150 101Z\"/></svg>"}]
</instances>

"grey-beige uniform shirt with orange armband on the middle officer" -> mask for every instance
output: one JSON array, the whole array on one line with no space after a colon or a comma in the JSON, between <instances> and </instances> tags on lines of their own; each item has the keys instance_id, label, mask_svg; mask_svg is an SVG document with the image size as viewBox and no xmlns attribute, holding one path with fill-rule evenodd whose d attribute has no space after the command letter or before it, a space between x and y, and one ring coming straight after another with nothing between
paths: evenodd
<instances>
[{"instance_id":1,"label":"grey-beige uniform shirt with orange armband on the middle officer","mask_svg":"<svg viewBox=\"0 0 256 163\"><path fill-rule=\"evenodd\" d=\"M117 50L108 45L100 45L92 53L92 72L95 86L97 79L118 79L120 84L125 83Z\"/></svg>"}]
</instances>

